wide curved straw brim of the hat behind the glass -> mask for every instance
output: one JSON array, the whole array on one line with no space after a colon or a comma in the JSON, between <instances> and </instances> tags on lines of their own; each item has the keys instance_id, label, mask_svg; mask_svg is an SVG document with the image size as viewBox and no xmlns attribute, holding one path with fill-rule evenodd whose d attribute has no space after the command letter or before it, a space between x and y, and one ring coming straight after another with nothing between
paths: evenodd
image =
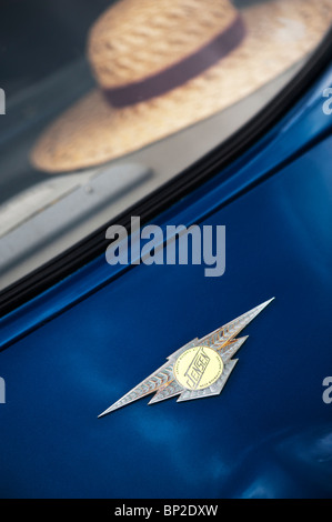
<instances>
[{"instance_id":1,"label":"wide curved straw brim of the hat behind the glass","mask_svg":"<svg viewBox=\"0 0 332 522\"><path fill-rule=\"evenodd\" d=\"M49 173L95 167L227 109L320 43L330 27L331 0L270 0L241 14L245 40L214 67L167 94L123 109L93 90L42 133L32 164Z\"/></svg>"}]
</instances>

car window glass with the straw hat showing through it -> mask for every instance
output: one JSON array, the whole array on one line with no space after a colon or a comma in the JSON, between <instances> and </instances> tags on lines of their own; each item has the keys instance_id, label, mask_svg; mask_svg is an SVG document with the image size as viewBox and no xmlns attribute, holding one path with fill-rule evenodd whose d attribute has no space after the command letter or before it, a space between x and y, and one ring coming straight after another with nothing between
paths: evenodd
<instances>
[{"instance_id":1,"label":"car window glass with the straw hat showing through it","mask_svg":"<svg viewBox=\"0 0 332 522\"><path fill-rule=\"evenodd\" d=\"M0 290L220 145L332 0L0 2Z\"/></svg>"}]
</instances>

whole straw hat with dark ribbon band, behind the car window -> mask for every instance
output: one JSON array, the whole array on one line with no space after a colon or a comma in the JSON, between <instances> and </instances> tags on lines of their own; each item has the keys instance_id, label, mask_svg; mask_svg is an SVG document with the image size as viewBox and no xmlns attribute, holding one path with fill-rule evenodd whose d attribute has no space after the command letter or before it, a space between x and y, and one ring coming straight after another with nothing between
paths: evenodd
<instances>
[{"instance_id":1,"label":"whole straw hat with dark ribbon band, behind the car window","mask_svg":"<svg viewBox=\"0 0 332 522\"><path fill-rule=\"evenodd\" d=\"M329 29L332 0L121 0L90 31L98 89L40 137L47 172L94 167L235 103L302 59Z\"/></svg>"}]
</instances>

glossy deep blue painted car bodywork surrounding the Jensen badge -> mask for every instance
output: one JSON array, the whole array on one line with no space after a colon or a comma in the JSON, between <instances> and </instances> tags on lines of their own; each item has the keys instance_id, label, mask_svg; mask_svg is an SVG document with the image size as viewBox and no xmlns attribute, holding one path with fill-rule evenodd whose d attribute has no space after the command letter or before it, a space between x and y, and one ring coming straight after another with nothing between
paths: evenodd
<instances>
[{"instance_id":1,"label":"glossy deep blue painted car bodywork surrounding the Jensen badge","mask_svg":"<svg viewBox=\"0 0 332 522\"><path fill-rule=\"evenodd\" d=\"M223 277L102 257L1 320L1 496L331 496L329 83L154 221L225 224ZM272 295L220 396L97 420L183 343Z\"/></svg>"}]
</instances>

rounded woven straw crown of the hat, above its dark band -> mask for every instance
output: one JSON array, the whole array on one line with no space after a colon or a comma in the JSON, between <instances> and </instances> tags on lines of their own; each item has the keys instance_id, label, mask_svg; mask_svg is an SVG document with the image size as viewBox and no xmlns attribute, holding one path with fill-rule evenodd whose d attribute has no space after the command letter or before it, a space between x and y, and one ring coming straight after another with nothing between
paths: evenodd
<instances>
[{"instance_id":1,"label":"rounded woven straw crown of the hat, above its dark band","mask_svg":"<svg viewBox=\"0 0 332 522\"><path fill-rule=\"evenodd\" d=\"M123 0L94 23L89 59L103 89L141 81L182 60L225 30L229 0Z\"/></svg>"}]
</instances>

